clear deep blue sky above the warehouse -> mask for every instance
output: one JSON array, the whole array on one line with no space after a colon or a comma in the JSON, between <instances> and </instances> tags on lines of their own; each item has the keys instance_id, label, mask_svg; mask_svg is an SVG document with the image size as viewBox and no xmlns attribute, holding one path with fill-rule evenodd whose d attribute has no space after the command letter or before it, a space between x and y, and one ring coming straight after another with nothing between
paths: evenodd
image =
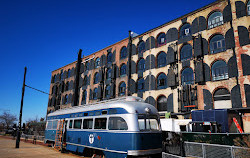
<instances>
[{"instance_id":1,"label":"clear deep blue sky above the warehouse","mask_svg":"<svg viewBox=\"0 0 250 158\"><path fill-rule=\"evenodd\" d=\"M0 113L18 115L26 84L49 92L51 72L216 0L0 0ZM48 95L26 88L23 121L45 117Z\"/></svg>"}]
</instances>

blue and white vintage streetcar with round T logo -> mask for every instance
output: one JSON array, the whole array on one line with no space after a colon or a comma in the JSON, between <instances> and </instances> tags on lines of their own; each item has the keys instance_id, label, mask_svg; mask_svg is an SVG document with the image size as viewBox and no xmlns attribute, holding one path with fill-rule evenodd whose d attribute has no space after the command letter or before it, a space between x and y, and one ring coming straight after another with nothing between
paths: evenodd
<instances>
[{"instance_id":1,"label":"blue and white vintage streetcar with round T logo","mask_svg":"<svg viewBox=\"0 0 250 158\"><path fill-rule=\"evenodd\" d=\"M159 114L138 97L57 110L47 116L45 143L58 141L85 156L154 157L162 151Z\"/></svg>"}]
</instances>

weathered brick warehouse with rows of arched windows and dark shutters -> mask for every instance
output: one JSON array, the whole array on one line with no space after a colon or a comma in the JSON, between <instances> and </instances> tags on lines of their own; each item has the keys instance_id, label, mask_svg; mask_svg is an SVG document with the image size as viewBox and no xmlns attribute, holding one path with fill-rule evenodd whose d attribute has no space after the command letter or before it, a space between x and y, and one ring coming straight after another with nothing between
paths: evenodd
<instances>
[{"instance_id":1,"label":"weathered brick warehouse with rows of arched windows and dark shutters","mask_svg":"<svg viewBox=\"0 0 250 158\"><path fill-rule=\"evenodd\" d=\"M193 109L229 109L250 132L249 31L250 1L218 0L130 33L53 71L47 111L132 95L178 118Z\"/></svg>"}]
</instances>

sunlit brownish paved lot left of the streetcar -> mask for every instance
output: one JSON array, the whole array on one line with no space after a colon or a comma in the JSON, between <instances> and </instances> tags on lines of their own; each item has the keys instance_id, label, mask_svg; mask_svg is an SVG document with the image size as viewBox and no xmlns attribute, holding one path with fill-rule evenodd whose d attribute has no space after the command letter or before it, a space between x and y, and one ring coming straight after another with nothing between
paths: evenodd
<instances>
[{"instance_id":1,"label":"sunlit brownish paved lot left of the streetcar","mask_svg":"<svg viewBox=\"0 0 250 158\"><path fill-rule=\"evenodd\" d=\"M20 142L20 148L15 148L16 141L0 136L1 158L80 158L80 156L60 153L51 147Z\"/></svg>"}]
</instances>

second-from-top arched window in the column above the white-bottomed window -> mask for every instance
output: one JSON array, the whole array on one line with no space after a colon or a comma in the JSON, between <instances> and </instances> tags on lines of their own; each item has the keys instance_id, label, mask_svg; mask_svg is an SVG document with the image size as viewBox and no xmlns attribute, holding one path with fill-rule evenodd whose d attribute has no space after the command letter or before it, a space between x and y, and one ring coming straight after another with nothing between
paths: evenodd
<instances>
[{"instance_id":1,"label":"second-from-top arched window in the column above the white-bottomed window","mask_svg":"<svg viewBox=\"0 0 250 158\"><path fill-rule=\"evenodd\" d=\"M225 47L225 38L222 35L215 35L211 40L210 40L210 53L219 53L219 52L224 52L226 50Z\"/></svg>"}]
</instances>

